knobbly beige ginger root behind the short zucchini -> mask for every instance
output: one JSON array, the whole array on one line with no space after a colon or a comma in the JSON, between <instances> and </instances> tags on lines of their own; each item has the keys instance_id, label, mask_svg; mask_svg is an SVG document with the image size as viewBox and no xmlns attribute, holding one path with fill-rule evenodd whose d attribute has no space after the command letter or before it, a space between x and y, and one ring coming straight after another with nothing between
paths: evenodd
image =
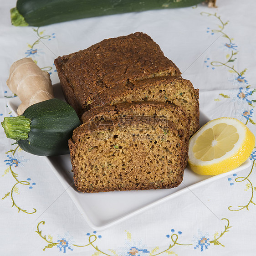
<instances>
[{"instance_id":1,"label":"knobbly beige ginger root behind the short zucchini","mask_svg":"<svg viewBox=\"0 0 256 256\"><path fill-rule=\"evenodd\" d=\"M18 115L29 106L54 97L49 73L42 71L30 58L20 59L11 65L7 86L20 98Z\"/></svg>"}]
</instances>

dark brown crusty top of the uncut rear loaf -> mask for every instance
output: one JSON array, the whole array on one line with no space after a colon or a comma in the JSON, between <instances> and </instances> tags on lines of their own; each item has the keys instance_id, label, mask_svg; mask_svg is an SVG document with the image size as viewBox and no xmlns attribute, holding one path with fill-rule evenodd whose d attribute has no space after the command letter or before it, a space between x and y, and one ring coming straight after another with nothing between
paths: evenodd
<instances>
[{"instance_id":1,"label":"dark brown crusty top of the uncut rear loaf","mask_svg":"<svg viewBox=\"0 0 256 256\"><path fill-rule=\"evenodd\" d=\"M159 45L142 32L105 39L85 50L58 57L55 65L83 108L93 96L127 91L135 81L181 74Z\"/></svg>"}]
</instances>

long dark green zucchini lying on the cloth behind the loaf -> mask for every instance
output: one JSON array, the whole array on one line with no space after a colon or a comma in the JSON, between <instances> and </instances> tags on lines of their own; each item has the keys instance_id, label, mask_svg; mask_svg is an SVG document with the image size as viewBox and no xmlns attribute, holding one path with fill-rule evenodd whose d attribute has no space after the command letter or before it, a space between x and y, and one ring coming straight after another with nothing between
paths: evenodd
<instances>
[{"instance_id":1,"label":"long dark green zucchini lying on the cloth behind the loaf","mask_svg":"<svg viewBox=\"0 0 256 256\"><path fill-rule=\"evenodd\" d=\"M17 0L15 26L45 26L68 20L127 12L188 7L204 0Z\"/></svg>"}]
</instances>

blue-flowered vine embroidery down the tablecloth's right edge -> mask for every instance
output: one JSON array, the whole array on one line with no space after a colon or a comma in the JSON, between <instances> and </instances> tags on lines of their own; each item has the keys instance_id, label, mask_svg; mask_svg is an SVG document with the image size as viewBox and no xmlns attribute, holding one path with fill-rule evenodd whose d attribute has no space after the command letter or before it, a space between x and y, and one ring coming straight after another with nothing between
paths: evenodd
<instances>
[{"instance_id":1,"label":"blue-flowered vine embroidery down the tablecloth's right edge","mask_svg":"<svg viewBox=\"0 0 256 256\"><path fill-rule=\"evenodd\" d=\"M244 121L245 124L247 125L248 123L251 123L253 125L256 125L256 122L253 120L253 113L254 113L254 103L256 100L252 97L253 94L256 92L256 89L251 89L251 85L248 84L248 81L246 80L245 73L247 71L247 68L244 68L242 71L237 71L235 67L235 62L237 60L237 48L238 46L234 43L234 39L228 36L225 32L224 29L228 25L228 21L224 22L219 15L211 14L208 12L201 12L201 15L207 15L208 17L214 17L215 19L218 20L219 29L212 29L210 30L210 27L207 27L207 33L211 33L211 35L215 34L221 34L227 42L224 44L225 47L230 49L230 53L226 55L226 61L211 61L210 65L215 69L215 67L226 67L228 69L228 72L231 74L235 75L235 79L233 77L230 82L236 83L239 87L238 91L236 89L230 90L229 94L224 94L220 93L220 98L226 101L231 102L237 102L240 106L239 110L236 111L235 113L235 118L241 119L241 121ZM210 67L208 64L208 61L210 58L207 58L205 63L206 67ZM216 102L220 101L220 98L215 99ZM248 204L241 206L238 205L238 209L234 209L233 206L229 206L228 210L230 211L239 211L239 210L249 210L248 206L255 203L253 202L253 196L254 196L254 190L256 190L256 187L252 184L251 180L249 179L255 165L255 160L256 160L256 148L254 148L253 152L251 153L250 159L253 160L252 168L249 174L246 177L237 177L235 179L235 182L247 182L246 186L247 189L251 189L251 198L248 202ZM233 183L234 184L234 183Z\"/></svg>"}]
</instances>

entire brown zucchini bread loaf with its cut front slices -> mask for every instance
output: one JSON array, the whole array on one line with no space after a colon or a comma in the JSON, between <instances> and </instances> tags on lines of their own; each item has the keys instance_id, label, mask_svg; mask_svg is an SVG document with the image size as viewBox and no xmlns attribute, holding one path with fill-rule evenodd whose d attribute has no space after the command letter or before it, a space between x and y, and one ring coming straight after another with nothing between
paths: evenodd
<instances>
[{"instance_id":1,"label":"entire brown zucchini bread loaf with its cut front slices","mask_svg":"<svg viewBox=\"0 0 256 256\"><path fill-rule=\"evenodd\" d=\"M82 125L69 140L79 191L178 186L199 129L199 91L146 34L103 40L55 60Z\"/></svg>"}]
</instances>

